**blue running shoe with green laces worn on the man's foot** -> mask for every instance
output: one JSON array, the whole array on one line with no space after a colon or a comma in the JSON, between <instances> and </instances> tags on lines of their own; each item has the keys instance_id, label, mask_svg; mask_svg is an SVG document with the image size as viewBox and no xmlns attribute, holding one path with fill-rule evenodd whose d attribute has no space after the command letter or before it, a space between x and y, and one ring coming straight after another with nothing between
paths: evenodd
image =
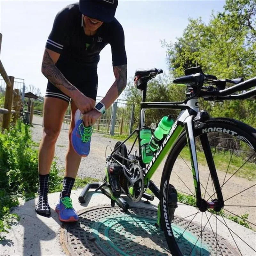
<instances>
[{"instance_id":1,"label":"blue running shoe with green laces worn on the man's foot","mask_svg":"<svg viewBox=\"0 0 256 256\"><path fill-rule=\"evenodd\" d=\"M60 221L75 222L79 220L79 217L73 208L72 200L68 196L59 199L55 211L58 213Z\"/></svg>"}]
</instances>

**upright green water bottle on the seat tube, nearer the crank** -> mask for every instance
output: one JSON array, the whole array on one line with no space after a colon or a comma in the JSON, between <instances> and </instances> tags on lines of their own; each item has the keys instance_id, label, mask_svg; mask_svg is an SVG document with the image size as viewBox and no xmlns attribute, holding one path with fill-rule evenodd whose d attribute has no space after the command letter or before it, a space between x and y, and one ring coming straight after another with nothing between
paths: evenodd
<instances>
[{"instance_id":1,"label":"upright green water bottle on the seat tube, nearer the crank","mask_svg":"<svg viewBox=\"0 0 256 256\"><path fill-rule=\"evenodd\" d=\"M154 156L154 153L149 148L149 141L152 137L152 132L149 127L142 127L140 129L140 150L142 155L142 161L145 164L150 163Z\"/></svg>"}]
</instances>

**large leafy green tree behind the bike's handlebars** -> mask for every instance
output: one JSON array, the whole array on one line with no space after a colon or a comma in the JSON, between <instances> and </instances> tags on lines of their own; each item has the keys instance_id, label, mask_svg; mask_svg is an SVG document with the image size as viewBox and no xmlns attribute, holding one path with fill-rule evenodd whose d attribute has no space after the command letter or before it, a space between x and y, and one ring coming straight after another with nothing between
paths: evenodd
<instances>
[{"instance_id":1,"label":"large leafy green tree behind the bike's handlebars","mask_svg":"<svg viewBox=\"0 0 256 256\"><path fill-rule=\"evenodd\" d=\"M218 78L251 78L256 74L256 2L227 0L224 12L212 13L209 24L188 19L183 35L166 47L170 72L183 76L184 69L200 65ZM201 101L212 116L226 116L255 126L255 102L249 100Z\"/></svg>"}]
</instances>

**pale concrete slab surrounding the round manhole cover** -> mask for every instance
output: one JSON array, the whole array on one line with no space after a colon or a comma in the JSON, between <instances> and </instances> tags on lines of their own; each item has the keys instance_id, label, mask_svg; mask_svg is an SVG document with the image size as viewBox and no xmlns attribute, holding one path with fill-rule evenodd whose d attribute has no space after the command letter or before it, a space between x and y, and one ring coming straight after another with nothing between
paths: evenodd
<instances>
[{"instance_id":1,"label":"pale concrete slab surrounding the round manhole cover","mask_svg":"<svg viewBox=\"0 0 256 256\"><path fill-rule=\"evenodd\" d=\"M73 190L71 199L73 201L74 208L76 211L81 211L88 207L93 207L97 205L110 205L110 199L100 192L94 192L90 190L87 194L85 200L86 202L80 204L78 202L78 196L80 195L82 189ZM60 244L59 234L61 222L58 219L57 213L54 211L55 203L59 198L60 193L49 194L49 204L51 207L51 216L49 218L37 215L35 212L35 204L37 199L24 202L19 207L16 207L13 212L20 216L20 221L17 225L13 226L10 233L6 235L6 239L0 244L1 255L66 255ZM131 206L142 206L148 207L150 209L157 209L158 199L155 198L151 204L141 202L134 204L130 200L127 202ZM190 214L196 213L197 210L191 206L179 205L175 215L182 218ZM190 214L189 214L190 213ZM194 223L199 223L201 221L201 213L193 219ZM188 217L188 220L192 220L193 215ZM247 243L255 250L256 233L248 228L244 228L241 225L236 224L230 220L223 221L222 217L212 216L211 214L203 214L203 223L206 224L207 229L210 230L207 220L211 218L212 229L215 231L216 221L218 221L218 233L221 234L233 247L236 248L234 240L231 236L235 236L232 231L236 232L246 240ZM221 221L227 224L230 229L228 230L225 225L221 225ZM243 245L241 239L235 238L236 243L239 244L242 255L255 255L249 246ZM240 247L241 246L241 247Z\"/></svg>"}]
</instances>

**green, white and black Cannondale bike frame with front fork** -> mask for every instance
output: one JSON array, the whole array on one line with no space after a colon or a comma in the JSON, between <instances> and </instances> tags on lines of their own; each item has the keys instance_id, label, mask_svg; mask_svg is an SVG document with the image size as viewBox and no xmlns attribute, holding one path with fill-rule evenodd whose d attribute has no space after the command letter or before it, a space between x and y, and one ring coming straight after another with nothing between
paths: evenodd
<instances>
[{"instance_id":1,"label":"green, white and black Cannondale bike frame with front fork","mask_svg":"<svg viewBox=\"0 0 256 256\"><path fill-rule=\"evenodd\" d=\"M140 128L144 126L145 112L147 109L178 109L178 110L181 110L180 115L177 117L174 124L172 125L170 132L167 134L162 145L156 151L154 157L152 158L151 162L148 164L147 167L142 162L142 159L140 157L140 165L142 167L145 167L145 169L144 169L145 170L145 172L144 172L144 175L145 175L144 176L144 188L149 187L150 179L153 176L153 174L156 172L156 169L158 168L160 163L163 161L166 154L168 152L170 152L173 145L178 140L180 134L185 130L187 140L188 140L190 159L191 159L191 170L193 173L193 179L194 179L194 185L195 185L195 191L196 191L197 207L199 207L199 209L202 209L202 207L203 207L204 211L206 210L206 208L214 208L214 206L216 206L214 203L205 202L201 196L198 164L197 164L197 157L196 157L196 145L195 145L195 138L194 138L194 132L193 132L195 129L194 118L196 117L197 121L200 122L200 110L199 110L198 99L192 98L192 99L185 100L183 102L141 102L140 106L141 106L141 110L140 110L139 128L134 130L132 132L132 134L126 140L128 140L136 132L137 132L138 138L140 138L139 131L140 131ZM205 154L207 163L209 165L211 176L213 178L213 183L214 183L214 187L216 189L218 201L220 202L220 204L224 204L221 189L220 189L220 184L219 184L217 172L215 169L215 165L213 162L212 152L211 152L211 148L209 145L207 135L202 134L200 136L200 140L201 140L201 143L203 146L203 150L204 150L204 154ZM140 156L141 156L140 139L139 139L139 152L140 152ZM153 191L153 193L154 193L154 191ZM157 196L159 198L159 193L154 193L154 194L155 194L155 196Z\"/></svg>"}]
</instances>

